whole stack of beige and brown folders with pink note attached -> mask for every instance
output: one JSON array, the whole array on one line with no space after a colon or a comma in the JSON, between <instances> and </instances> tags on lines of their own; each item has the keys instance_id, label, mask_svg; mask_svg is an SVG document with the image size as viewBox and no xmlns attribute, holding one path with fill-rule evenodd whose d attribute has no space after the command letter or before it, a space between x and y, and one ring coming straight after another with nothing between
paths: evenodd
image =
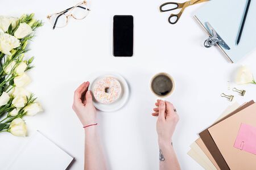
<instances>
[{"instance_id":1,"label":"whole stack of beige and brown folders with pink note attached","mask_svg":"<svg viewBox=\"0 0 256 170\"><path fill-rule=\"evenodd\" d=\"M199 133L188 155L205 169L255 169L256 103L231 105Z\"/></svg>"}]
</instances>

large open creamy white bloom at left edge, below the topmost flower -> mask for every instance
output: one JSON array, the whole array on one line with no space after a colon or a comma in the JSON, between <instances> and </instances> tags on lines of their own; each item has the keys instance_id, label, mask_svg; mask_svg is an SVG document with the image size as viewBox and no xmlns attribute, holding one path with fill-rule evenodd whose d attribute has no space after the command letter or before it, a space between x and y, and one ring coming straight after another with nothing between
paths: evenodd
<instances>
[{"instance_id":1,"label":"large open creamy white bloom at left edge, below the topmost flower","mask_svg":"<svg viewBox=\"0 0 256 170\"><path fill-rule=\"evenodd\" d=\"M9 35L8 33L0 32L0 52L11 55L10 50L18 47L20 42L16 37Z\"/></svg>"}]
</instances>

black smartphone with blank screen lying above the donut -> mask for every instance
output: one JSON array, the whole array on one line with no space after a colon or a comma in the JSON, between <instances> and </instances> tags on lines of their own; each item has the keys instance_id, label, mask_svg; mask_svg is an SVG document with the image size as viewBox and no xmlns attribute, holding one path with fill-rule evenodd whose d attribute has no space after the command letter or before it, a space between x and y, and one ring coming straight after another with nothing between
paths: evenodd
<instances>
[{"instance_id":1,"label":"black smartphone with blank screen lying above the donut","mask_svg":"<svg viewBox=\"0 0 256 170\"><path fill-rule=\"evenodd\" d=\"M113 56L133 56L132 15L115 15L113 18Z\"/></svg>"}]
</instances>

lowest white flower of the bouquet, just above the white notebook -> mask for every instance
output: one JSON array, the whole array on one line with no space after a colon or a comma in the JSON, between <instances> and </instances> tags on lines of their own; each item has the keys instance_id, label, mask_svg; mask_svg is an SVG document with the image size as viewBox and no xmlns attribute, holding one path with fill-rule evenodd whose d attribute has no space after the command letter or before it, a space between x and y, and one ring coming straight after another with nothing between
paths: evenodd
<instances>
[{"instance_id":1,"label":"lowest white flower of the bouquet, just above the white notebook","mask_svg":"<svg viewBox=\"0 0 256 170\"><path fill-rule=\"evenodd\" d=\"M22 118L18 117L11 122L10 128L8 131L10 131L10 133L15 136L26 137L27 127L25 122L22 120Z\"/></svg>"}]
</instances>

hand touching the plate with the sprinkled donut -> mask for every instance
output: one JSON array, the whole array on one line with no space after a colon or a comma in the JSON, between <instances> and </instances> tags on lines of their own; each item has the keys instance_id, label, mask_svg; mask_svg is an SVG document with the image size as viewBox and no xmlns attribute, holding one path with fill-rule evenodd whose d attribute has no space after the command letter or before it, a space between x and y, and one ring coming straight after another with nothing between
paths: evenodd
<instances>
[{"instance_id":1,"label":"hand touching the plate with the sprinkled donut","mask_svg":"<svg viewBox=\"0 0 256 170\"><path fill-rule=\"evenodd\" d=\"M96 123L96 108L93 105L92 94L88 90L89 85L89 82L82 83L74 94L72 108L79 117L82 126Z\"/></svg>"}]
</instances>

